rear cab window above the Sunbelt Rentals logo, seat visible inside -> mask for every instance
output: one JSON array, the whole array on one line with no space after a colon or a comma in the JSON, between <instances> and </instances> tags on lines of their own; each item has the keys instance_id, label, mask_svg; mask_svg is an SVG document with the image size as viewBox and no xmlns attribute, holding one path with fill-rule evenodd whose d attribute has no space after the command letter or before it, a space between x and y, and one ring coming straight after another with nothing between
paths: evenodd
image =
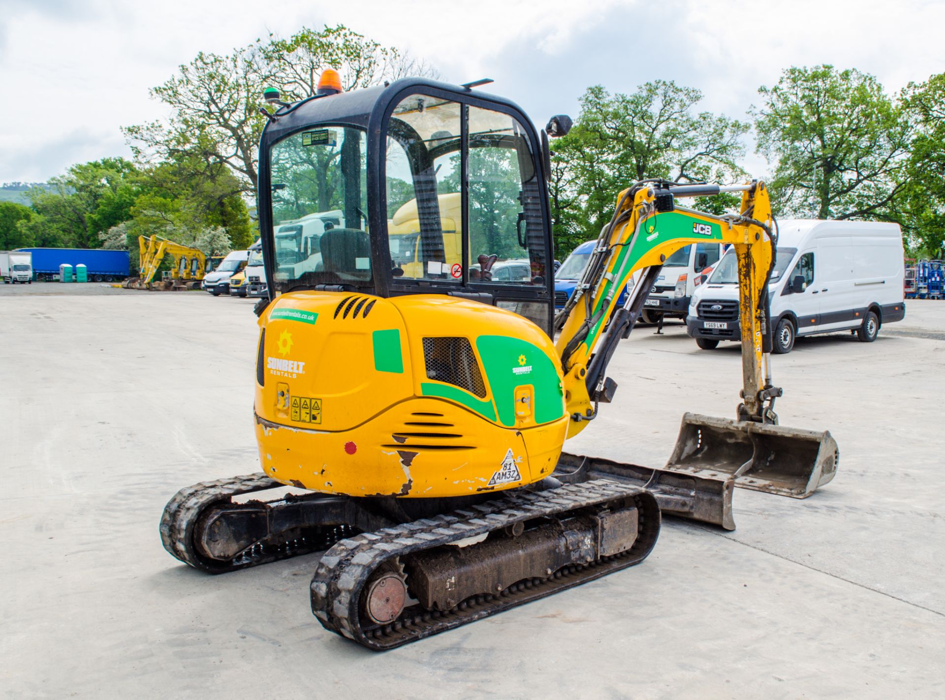
<instances>
[{"instance_id":1,"label":"rear cab window above the Sunbelt Rentals logo, seat visible inside","mask_svg":"<svg viewBox=\"0 0 945 700\"><path fill-rule=\"evenodd\" d=\"M310 127L272 145L276 282L371 282L366 159L360 128Z\"/></svg>"}]
</instances>

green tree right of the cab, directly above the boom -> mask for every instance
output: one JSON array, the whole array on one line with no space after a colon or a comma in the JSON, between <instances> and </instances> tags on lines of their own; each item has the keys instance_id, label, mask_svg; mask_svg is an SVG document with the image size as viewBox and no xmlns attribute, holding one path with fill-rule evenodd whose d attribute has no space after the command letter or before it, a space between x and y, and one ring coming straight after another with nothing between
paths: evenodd
<instances>
[{"instance_id":1,"label":"green tree right of the cab, directly above the boom","mask_svg":"<svg viewBox=\"0 0 945 700\"><path fill-rule=\"evenodd\" d=\"M552 218L556 246L573 248L610 221L616 196L640 179L730 182L745 173L748 125L696 111L702 94L675 82L644 83L633 94L600 85L581 97L575 127L556 140Z\"/></svg>"}]
</instances>

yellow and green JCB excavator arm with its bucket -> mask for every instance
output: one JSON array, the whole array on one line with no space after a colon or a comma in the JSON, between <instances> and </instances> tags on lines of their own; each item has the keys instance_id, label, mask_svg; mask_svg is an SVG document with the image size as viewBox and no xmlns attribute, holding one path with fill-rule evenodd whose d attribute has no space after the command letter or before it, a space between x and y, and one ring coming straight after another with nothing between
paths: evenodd
<instances>
[{"instance_id":1,"label":"yellow and green JCB excavator arm with its bucket","mask_svg":"<svg viewBox=\"0 0 945 700\"><path fill-rule=\"evenodd\" d=\"M741 213L716 216L676 201L723 190L742 193ZM731 244L737 256L742 402L735 420L687 413L667 468L709 478L730 475L739 487L805 498L833 479L838 452L829 433L777 425L774 401L782 389L771 383L767 299L777 224L764 182L721 188L654 180L620 194L575 294L555 320L571 418L568 436L596 417L598 403L610 402L616 383L606 376L607 364L632 330L662 262L683 245L707 241ZM637 270L643 270L640 282L624 308L614 309L618 290Z\"/></svg>"}]
</instances>

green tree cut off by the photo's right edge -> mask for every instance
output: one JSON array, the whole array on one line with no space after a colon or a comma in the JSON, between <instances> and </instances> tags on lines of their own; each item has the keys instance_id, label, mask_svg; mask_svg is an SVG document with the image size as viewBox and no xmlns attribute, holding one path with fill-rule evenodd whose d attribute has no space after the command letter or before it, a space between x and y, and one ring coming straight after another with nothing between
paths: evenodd
<instances>
[{"instance_id":1,"label":"green tree cut off by the photo's right edge","mask_svg":"<svg viewBox=\"0 0 945 700\"><path fill-rule=\"evenodd\" d=\"M902 106L915 126L905 164L902 224L920 257L945 257L945 73L910 82Z\"/></svg>"}]
</instances>

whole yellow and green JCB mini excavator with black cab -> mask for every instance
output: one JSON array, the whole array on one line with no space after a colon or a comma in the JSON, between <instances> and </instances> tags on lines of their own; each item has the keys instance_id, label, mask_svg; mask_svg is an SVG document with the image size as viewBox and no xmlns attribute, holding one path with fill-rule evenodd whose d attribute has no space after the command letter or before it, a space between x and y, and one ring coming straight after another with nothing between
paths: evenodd
<instances>
[{"instance_id":1,"label":"whole yellow and green JCB mini excavator with black cab","mask_svg":"<svg viewBox=\"0 0 945 700\"><path fill-rule=\"evenodd\" d=\"M556 315L547 137L570 120L539 132L472 83L342 93L330 78L300 102L266 94L262 471L180 490L168 552L211 573L323 552L315 616L381 650L636 564L661 513L732 528L733 486L803 497L833 477L830 434L773 411L763 182L634 183ZM678 201L722 190L739 214ZM705 242L738 260L737 419L687 414L663 469L563 453L612 399L608 363L662 263Z\"/></svg>"}]
</instances>

